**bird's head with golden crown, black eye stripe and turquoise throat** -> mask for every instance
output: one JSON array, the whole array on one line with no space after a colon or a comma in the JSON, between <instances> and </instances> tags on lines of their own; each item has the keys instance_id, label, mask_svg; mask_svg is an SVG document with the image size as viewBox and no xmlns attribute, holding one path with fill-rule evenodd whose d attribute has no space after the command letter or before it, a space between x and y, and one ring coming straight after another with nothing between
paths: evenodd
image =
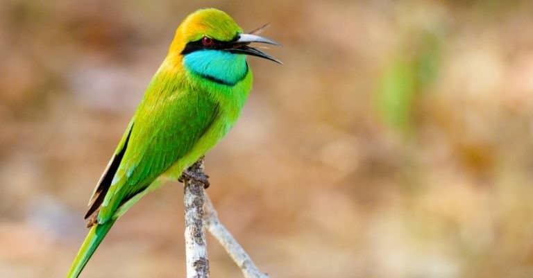
<instances>
[{"instance_id":1,"label":"bird's head with golden crown, black eye stripe and turquoise throat","mask_svg":"<svg viewBox=\"0 0 533 278\"><path fill-rule=\"evenodd\" d=\"M281 64L251 47L253 42L278 45L259 35L243 33L226 12L208 8L193 12L178 26L169 54L177 55L194 73L231 84L248 71L246 55Z\"/></svg>"}]
</instances>

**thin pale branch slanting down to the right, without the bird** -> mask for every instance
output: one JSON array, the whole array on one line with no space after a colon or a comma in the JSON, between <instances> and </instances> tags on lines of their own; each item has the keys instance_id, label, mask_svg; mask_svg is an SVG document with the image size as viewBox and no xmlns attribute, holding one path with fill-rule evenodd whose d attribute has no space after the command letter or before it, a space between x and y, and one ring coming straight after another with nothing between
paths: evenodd
<instances>
[{"instance_id":1,"label":"thin pale branch slanting down to the right, without the bird","mask_svg":"<svg viewBox=\"0 0 533 278\"><path fill-rule=\"evenodd\" d=\"M226 252L230 255L231 259L239 266L242 274L246 278L269 278L264 272L257 269L257 266L253 263L252 259L241 245L235 240L231 233L222 225L217 216L217 211L214 209L213 204L207 194L205 194L205 225L208 226L209 232L217 238L217 241L226 249Z\"/></svg>"}]
</instances>

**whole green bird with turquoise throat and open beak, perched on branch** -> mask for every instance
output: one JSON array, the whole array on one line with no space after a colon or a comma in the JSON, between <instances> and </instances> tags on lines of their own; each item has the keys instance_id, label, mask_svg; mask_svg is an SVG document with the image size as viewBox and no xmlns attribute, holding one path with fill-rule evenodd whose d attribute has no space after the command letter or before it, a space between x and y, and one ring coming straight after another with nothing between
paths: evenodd
<instances>
[{"instance_id":1,"label":"whole green bird with turquoise throat and open beak, perched on branch","mask_svg":"<svg viewBox=\"0 0 533 278\"><path fill-rule=\"evenodd\" d=\"M179 180L235 124L251 91L248 55L282 64L251 43L280 45L244 33L226 12L196 10L176 29L85 214L90 228L67 278L81 274L115 221L146 193Z\"/></svg>"}]
</instances>

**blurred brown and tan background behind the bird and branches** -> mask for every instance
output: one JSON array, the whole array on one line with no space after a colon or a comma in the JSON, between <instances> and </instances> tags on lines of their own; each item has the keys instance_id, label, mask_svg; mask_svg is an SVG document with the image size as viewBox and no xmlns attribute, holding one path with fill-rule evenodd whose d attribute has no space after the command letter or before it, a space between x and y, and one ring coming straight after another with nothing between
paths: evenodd
<instances>
[{"instance_id":1,"label":"blurred brown and tan background behind the bird and branches","mask_svg":"<svg viewBox=\"0 0 533 278\"><path fill-rule=\"evenodd\" d=\"M207 156L271 277L533 277L533 1L0 4L0 277L64 277L83 214L180 21L264 23L242 119ZM183 277L182 184L82 277ZM242 277L212 237L213 277Z\"/></svg>"}]
</instances>

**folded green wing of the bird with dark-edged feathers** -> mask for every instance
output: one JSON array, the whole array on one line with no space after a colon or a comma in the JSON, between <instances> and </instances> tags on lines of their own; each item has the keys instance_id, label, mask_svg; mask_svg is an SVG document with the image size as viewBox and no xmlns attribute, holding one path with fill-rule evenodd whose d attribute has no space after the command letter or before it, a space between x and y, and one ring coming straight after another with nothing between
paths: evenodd
<instances>
[{"instance_id":1,"label":"folded green wing of the bird with dark-edged feathers","mask_svg":"<svg viewBox=\"0 0 533 278\"><path fill-rule=\"evenodd\" d=\"M115 152L114 159L119 163L113 159L110 162L108 173L101 179L107 184L95 190L100 193L93 196L86 218L98 211L98 223L109 220L118 207L186 155L219 114L217 103L207 93L165 91L169 92L147 93L139 105Z\"/></svg>"}]
</instances>

